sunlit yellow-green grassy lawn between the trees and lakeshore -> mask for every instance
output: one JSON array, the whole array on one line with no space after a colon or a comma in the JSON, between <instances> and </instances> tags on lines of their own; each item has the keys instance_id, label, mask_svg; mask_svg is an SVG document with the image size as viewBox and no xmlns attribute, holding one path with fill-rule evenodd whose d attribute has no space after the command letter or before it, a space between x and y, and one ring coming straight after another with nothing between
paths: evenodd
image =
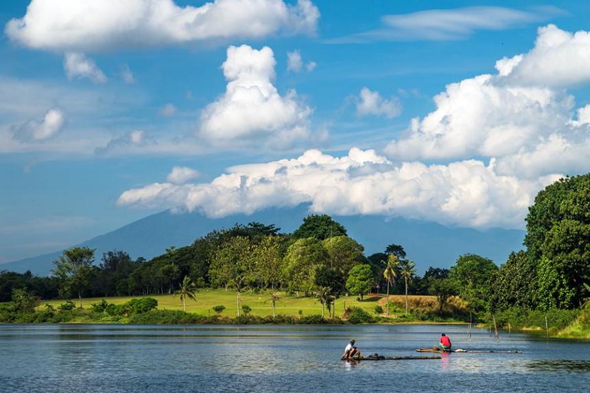
<instances>
[{"instance_id":1,"label":"sunlit yellow-green grassy lawn between the trees and lakeshore","mask_svg":"<svg viewBox=\"0 0 590 393\"><path fill-rule=\"evenodd\" d=\"M141 296L134 296L136 298ZM182 310L182 302L180 302L180 297L178 295L150 295L150 297L156 298L158 300L158 309L172 309L172 310ZM199 313L202 315L211 315L214 314L212 309L215 305L224 305L226 309L223 311L222 315L233 317L236 315L236 294L235 291L225 291L224 289L200 289L197 294L197 301L194 302L193 300L187 300L187 311L193 313ZM269 300L270 291L260 294L250 294L250 292L244 292L241 294L241 304L248 305L252 307L251 315L259 315L259 316L266 316L272 315L272 304ZM115 297L115 298L106 298L106 300L110 303L114 303L118 305L120 303L126 302L133 297ZM412 298L425 298L425 296L410 296ZM401 314L403 311L401 310L400 304L404 299L403 296L391 296L393 302L397 305L390 305L391 314L397 313ZM78 299L71 299L78 305ZM102 298L84 298L82 300L82 306L85 309L89 309L91 303L99 302ZM65 300L47 300L43 302L43 305L49 303L50 305L60 305ZM335 302L335 313L336 315L342 315L342 311L344 311L344 302L346 302L346 307L357 306L362 307L366 311L371 314L375 314L375 306L381 305L385 309L385 302L386 298L384 295L370 295L365 296L362 302L357 300L356 296L343 296L336 300ZM41 305L39 309L44 309L45 307ZM296 297L296 296L288 296L287 294L281 294L281 300L276 302L276 313L277 314L284 314L284 315L298 315L298 311L303 311L303 315L311 315L311 314L321 314L322 313L322 305L313 297ZM326 311L326 316L327 316Z\"/></svg>"}]
</instances>

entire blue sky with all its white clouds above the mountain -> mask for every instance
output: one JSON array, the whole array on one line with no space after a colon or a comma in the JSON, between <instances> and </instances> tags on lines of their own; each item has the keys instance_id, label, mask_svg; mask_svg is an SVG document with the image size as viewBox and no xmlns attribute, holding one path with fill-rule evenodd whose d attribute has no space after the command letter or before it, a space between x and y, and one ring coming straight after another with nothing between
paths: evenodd
<instances>
[{"instance_id":1,"label":"entire blue sky with all its white clouds above the mountain","mask_svg":"<svg viewBox=\"0 0 590 393\"><path fill-rule=\"evenodd\" d=\"M585 1L0 3L0 263L163 209L524 228L590 171Z\"/></svg>"}]
</instances>

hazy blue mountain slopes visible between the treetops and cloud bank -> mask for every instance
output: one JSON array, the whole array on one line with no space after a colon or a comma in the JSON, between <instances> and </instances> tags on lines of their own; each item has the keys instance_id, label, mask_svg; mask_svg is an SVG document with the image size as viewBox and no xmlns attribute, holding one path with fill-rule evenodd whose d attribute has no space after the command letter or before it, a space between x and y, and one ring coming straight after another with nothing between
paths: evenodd
<instances>
[{"instance_id":1,"label":"hazy blue mountain slopes visible between the treetops and cloud bank","mask_svg":"<svg viewBox=\"0 0 590 393\"><path fill-rule=\"evenodd\" d=\"M163 211L132 222L113 232L97 236L77 246L96 249L97 260L103 252L124 250L132 258L151 259L163 254L169 246L186 246L194 239L211 230L228 228L233 224L261 222L276 224L283 232L292 232L308 214L307 206L293 209L266 209L253 215L231 215L223 218L208 218L200 213L174 214ZM365 247L365 254L383 251L390 243L401 244L408 257L416 262L418 273L429 266L449 267L460 254L480 254L504 263L512 250L522 248L522 230L490 229L479 231L471 228L449 228L433 222L422 222L399 217L387 218L377 215L333 216ZM4 263L0 270L47 275L62 250Z\"/></svg>"}]
</instances>

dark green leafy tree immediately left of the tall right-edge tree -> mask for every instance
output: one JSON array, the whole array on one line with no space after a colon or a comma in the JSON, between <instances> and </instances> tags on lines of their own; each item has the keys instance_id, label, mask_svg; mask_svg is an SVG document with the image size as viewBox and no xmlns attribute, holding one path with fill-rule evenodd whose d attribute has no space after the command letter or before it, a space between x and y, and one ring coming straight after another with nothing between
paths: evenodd
<instances>
[{"instance_id":1,"label":"dark green leafy tree immediately left of the tall right-edge tree","mask_svg":"<svg viewBox=\"0 0 590 393\"><path fill-rule=\"evenodd\" d=\"M508 261L491 278L488 291L490 309L533 308L536 288L536 267L526 252L512 252Z\"/></svg>"}]
</instances>

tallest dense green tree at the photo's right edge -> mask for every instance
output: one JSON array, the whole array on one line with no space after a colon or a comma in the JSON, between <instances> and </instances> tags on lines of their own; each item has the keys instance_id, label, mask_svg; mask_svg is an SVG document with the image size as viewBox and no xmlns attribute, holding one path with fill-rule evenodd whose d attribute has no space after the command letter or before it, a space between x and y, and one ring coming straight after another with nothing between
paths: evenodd
<instances>
[{"instance_id":1,"label":"tallest dense green tree at the photo's right edge","mask_svg":"<svg viewBox=\"0 0 590 393\"><path fill-rule=\"evenodd\" d=\"M539 276L539 306L578 307L589 295L590 174L562 178L530 206L525 245Z\"/></svg>"}]
</instances>

